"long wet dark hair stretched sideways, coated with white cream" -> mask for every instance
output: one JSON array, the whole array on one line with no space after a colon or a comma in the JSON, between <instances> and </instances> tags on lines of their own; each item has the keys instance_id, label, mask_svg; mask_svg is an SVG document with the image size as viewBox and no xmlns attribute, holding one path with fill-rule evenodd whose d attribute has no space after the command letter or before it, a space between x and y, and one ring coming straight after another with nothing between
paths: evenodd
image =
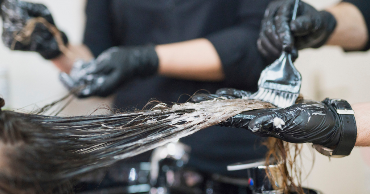
<instances>
[{"instance_id":1,"label":"long wet dark hair stretched sideways, coated with white cream","mask_svg":"<svg viewBox=\"0 0 370 194\"><path fill-rule=\"evenodd\" d=\"M70 194L76 176L188 136L240 112L271 107L260 101L233 99L171 107L158 103L148 110L87 116L1 110L0 193Z\"/></svg>"}]
</instances>

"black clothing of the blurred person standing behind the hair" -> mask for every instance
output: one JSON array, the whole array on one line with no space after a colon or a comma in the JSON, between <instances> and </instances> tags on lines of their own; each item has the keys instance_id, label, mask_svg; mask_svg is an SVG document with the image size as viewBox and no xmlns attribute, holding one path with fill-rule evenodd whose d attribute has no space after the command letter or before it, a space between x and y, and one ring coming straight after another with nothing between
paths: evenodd
<instances>
[{"instance_id":1,"label":"black clothing of the blurred person standing behind the hair","mask_svg":"<svg viewBox=\"0 0 370 194\"><path fill-rule=\"evenodd\" d=\"M207 38L226 74L223 82L199 82L152 76L127 82L117 91L117 108L141 109L151 98L185 102L199 89L222 87L256 91L267 65L256 48L268 0L88 0L84 44L98 56L119 45L167 44ZM124 64L122 64L124 65ZM180 97L180 98L179 98ZM245 129L213 126L182 142L191 146L189 165L201 171L237 176L226 166L262 158L260 138ZM133 160L148 160L148 154ZM243 174L245 176L245 174Z\"/></svg>"}]
</instances>

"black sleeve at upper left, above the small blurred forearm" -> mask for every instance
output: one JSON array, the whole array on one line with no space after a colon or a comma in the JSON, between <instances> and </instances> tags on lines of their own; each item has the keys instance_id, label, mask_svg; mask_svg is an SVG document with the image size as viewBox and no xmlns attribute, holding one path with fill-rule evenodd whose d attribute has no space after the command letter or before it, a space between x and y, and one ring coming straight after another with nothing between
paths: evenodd
<instances>
[{"instance_id":1,"label":"black sleeve at upper left, above the small blurred forearm","mask_svg":"<svg viewBox=\"0 0 370 194\"><path fill-rule=\"evenodd\" d=\"M83 43L95 57L114 46L109 4L108 0L87 0Z\"/></svg>"}]
</instances>

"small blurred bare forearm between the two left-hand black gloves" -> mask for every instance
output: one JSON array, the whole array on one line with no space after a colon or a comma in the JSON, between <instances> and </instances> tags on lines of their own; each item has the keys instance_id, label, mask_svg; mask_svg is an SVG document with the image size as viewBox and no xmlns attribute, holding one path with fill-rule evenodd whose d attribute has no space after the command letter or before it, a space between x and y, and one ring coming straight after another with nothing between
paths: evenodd
<instances>
[{"instance_id":1,"label":"small blurred bare forearm between the two left-hand black gloves","mask_svg":"<svg viewBox=\"0 0 370 194\"><path fill-rule=\"evenodd\" d=\"M85 45L68 45L68 49L73 54L72 56L66 56L61 54L59 57L51 59L54 65L60 69L62 72L67 74L71 71L73 63L76 59L83 59L85 61L90 61L93 59L91 51Z\"/></svg>"}]
</instances>

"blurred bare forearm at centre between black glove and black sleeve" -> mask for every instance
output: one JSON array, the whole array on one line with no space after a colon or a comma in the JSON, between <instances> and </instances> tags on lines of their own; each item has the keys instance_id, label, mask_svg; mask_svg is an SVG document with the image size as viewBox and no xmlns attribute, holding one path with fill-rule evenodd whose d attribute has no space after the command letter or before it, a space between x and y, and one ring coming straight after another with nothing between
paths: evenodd
<instances>
[{"instance_id":1,"label":"blurred bare forearm at centre between black glove and black sleeve","mask_svg":"<svg viewBox=\"0 0 370 194\"><path fill-rule=\"evenodd\" d=\"M199 38L157 45L160 75L197 81L222 81L221 59L212 43Z\"/></svg>"}]
</instances>

